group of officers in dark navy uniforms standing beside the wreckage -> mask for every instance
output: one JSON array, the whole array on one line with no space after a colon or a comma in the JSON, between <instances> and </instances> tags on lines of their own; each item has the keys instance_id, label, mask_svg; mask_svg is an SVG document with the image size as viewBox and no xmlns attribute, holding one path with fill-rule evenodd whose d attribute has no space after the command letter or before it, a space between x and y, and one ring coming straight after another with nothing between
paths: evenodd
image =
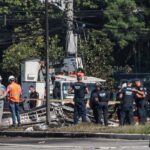
<instances>
[{"instance_id":1,"label":"group of officers in dark navy uniforms standing beside the wreckage","mask_svg":"<svg viewBox=\"0 0 150 150\"><path fill-rule=\"evenodd\" d=\"M82 82L82 77L77 77L77 82L72 85L68 92L74 91L74 124L78 123L80 117L82 121L86 122L86 105L85 94L87 94L88 88L86 84ZM118 90L118 119L120 126L125 124L134 124L134 109L136 106L136 112L139 118L139 123L144 125L147 121L146 112L146 88L142 86L140 80L128 81ZM110 100L110 91L101 83L95 84L95 89L91 92L90 107L93 110L95 123L104 124L108 126L108 102Z\"/></svg>"}]
</instances>

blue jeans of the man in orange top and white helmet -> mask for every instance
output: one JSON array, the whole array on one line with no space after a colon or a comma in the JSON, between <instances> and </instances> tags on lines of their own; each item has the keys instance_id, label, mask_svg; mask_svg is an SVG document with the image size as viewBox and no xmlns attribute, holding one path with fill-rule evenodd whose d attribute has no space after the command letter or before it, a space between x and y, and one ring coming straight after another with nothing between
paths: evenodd
<instances>
[{"instance_id":1,"label":"blue jeans of the man in orange top and white helmet","mask_svg":"<svg viewBox=\"0 0 150 150\"><path fill-rule=\"evenodd\" d=\"M16 118L20 125L19 103L9 102L9 109L12 115L13 126L16 126Z\"/></svg>"}]
</instances>

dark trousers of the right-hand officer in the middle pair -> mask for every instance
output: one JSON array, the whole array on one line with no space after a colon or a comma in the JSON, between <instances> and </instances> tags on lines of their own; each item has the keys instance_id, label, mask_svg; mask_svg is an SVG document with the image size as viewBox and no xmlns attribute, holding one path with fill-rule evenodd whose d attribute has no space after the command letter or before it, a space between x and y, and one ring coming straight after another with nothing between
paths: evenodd
<instances>
[{"instance_id":1,"label":"dark trousers of the right-hand officer in the middle pair","mask_svg":"<svg viewBox=\"0 0 150 150\"><path fill-rule=\"evenodd\" d=\"M102 117L104 118L105 126L108 125L108 103L100 102L98 109L98 123L102 124Z\"/></svg>"}]
</instances>

